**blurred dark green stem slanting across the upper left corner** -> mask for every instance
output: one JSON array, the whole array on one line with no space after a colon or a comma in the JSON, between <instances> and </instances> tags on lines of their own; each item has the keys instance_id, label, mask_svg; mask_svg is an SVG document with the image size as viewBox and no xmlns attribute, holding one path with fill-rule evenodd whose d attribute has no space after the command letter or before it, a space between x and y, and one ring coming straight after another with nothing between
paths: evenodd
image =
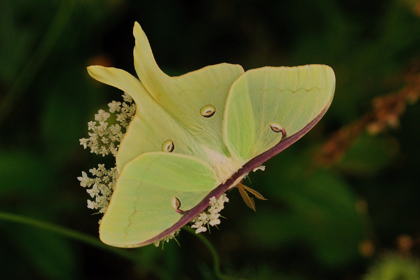
<instances>
[{"instance_id":1,"label":"blurred dark green stem slanting across the upper left corner","mask_svg":"<svg viewBox=\"0 0 420 280\"><path fill-rule=\"evenodd\" d=\"M11 112L16 102L18 102L32 84L32 81L37 76L39 69L42 65L44 65L45 60L47 60L48 55L51 50L53 50L60 34L67 26L75 3L76 0L62 0L60 8L42 38L37 50L35 50L32 56L28 59L26 65L18 74L8 93L0 103L0 125Z\"/></svg>"}]
</instances>

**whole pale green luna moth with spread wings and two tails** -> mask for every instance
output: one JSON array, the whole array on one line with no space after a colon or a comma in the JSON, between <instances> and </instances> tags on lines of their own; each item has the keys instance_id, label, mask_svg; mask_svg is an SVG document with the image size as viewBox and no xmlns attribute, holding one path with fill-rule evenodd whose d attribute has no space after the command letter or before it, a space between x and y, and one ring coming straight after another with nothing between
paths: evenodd
<instances>
[{"instance_id":1,"label":"whole pale green luna moth with spread wings and two tails","mask_svg":"<svg viewBox=\"0 0 420 280\"><path fill-rule=\"evenodd\" d=\"M131 95L136 115L116 154L120 176L100 239L139 247L178 230L209 199L293 144L322 118L335 90L327 65L244 72L221 63L170 77L134 24L134 66L89 66L90 76ZM259 193L257 193L259 194ZM256 195L257 195L256 194Z\"/></svg>"}]
</instances>

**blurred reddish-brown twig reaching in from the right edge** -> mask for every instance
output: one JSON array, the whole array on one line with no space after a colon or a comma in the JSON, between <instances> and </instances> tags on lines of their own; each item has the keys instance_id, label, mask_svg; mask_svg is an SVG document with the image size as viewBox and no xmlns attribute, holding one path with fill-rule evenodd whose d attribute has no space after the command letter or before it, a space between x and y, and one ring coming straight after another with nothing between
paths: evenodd
<instances>
[{"instance_id":1,"label":"blurred reddish-brown twig reaching in from the right edge","mask_svg":"<svg viewBox=\"0 0 420 280\"><path fill-rule=\"evenodd\" d=\"M420 97L420 60L413 63L404 77L404 84L399 92L373 99L371 112L334 132L315 155L314 165L331 167L340 162L363 131L376 135L387 128L398 127L406 105L417 102Z\"/></svg>"}]
</instances>

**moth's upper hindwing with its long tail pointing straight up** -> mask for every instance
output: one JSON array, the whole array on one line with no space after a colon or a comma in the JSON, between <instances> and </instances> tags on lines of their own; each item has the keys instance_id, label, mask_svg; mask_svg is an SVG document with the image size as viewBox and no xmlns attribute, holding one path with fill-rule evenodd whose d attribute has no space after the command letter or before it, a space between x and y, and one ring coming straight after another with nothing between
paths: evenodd
<instances>
[{"instance_id":1,"label":"moth's upper hindwing with its long tail pointing straight up","mask_svg":"<svg viewBox=\"0 0 420 280\"><path fill-rule=\"evenodd\" d=\"M197 141L225 156L223 112L229 89L244 73L241 65L222 63L170 77L155 62L146 34L134 24L134 66L153 98L164 107Z\"/></svg>"}]
</instances>

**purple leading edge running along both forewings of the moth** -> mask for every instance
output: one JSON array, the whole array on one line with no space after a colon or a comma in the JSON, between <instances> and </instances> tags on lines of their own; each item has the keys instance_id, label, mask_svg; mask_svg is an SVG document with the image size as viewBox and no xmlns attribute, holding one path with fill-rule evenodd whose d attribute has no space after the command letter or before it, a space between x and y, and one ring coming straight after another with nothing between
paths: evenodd
<instances>
[{"instance_id":1,"label":"purple leading edge running along both forewings of the moth","mask_svg":"<svg viewBox=\"0 0 420 280\"><path fill-rule=\"evenodd\" d=\"M194 208L188 211L185 211L184 216L182 216L182 218L178 222L176 222L173 226L171 226L171 228L168 228L164 230L162 233L160 233L159 235L153 238L150 238L149 240L144 241L142 243L138 243L134 245L133 247L141 247L141 246L151 244L155 241L158 241L164 238L168 234L173 233L175 230L182 228L184 225L186 225L189 221L194 219L194 217L196 217L199 213L201 213L206 207L210 205L210 198L212 198L213 196L215 196L216 198L221 196L235 182L237 178L249 172L250 170L254 169L255 167L261 165L263 162L270 159L271 157L274 157L276 154L283 151L284 149L289 147L291 144L299 140L302 136L304 136L308 131L310 131L312 127L315 126L316 123L318 123L318 121L323 117L325 112L327 112L330 105L331 105L331 102L327 106L324 107L322 112L319 113L319 115L316 116L315 119L313 119L310 123L308 123L304 128L299 130L297 133L293 134L292 136L286 137L285 139L282 139L273 148L269 149L268 151L263 152L262 154L254 157L249 162L245 163L241 169L239 169L238 171L236 171L234 175L232 175L231 178L229 178L228 180L226 180L225 183L219 185L213 191L211 191L210 194L208 194L199 204L197 204Z\"/></svg>"}]
</instances>

